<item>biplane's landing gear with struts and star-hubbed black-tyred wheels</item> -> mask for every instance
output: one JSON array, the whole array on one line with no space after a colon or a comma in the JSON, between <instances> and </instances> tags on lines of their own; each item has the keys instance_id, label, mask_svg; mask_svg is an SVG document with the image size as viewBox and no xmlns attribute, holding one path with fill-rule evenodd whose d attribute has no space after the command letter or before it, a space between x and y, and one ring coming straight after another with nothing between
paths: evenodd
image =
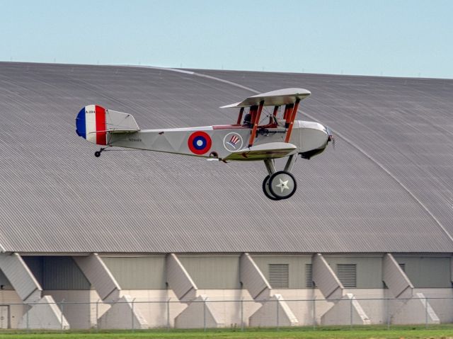
<instances>
[{"instance_id":1,"label":"biplane's landing gear with struts and star-hubbed black-tyred wheels","mask_svg":"<svg viewBox=\"0 0 453 339\"><path fill-rule=\"evenodd\" d=\"M273 160L264 161L269 175L263 180L263 192L270 200L283 200L292 197L297 190L297 182L290 173L296 161L296 156L289 156L284 171L276 171Z\"/></svg>"}]
</instances>

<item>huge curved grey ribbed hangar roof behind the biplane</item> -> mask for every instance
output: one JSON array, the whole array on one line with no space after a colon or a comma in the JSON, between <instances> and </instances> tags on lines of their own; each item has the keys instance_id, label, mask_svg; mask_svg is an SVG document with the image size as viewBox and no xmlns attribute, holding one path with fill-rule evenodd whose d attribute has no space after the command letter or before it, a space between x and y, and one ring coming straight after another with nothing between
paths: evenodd
<instances>
[{"instance_id":1,"label":"huge curved grey ribbed hangar roof behind the biplane","mask_svg":"<svg viewBox=\"0 0 453 339\"><path fill-rule=\"evenodd\" d=\"M263 163L110 151L80 108L142 128L224 124L219 106L303 87L336 149L299 159L297 193L261 192ZM0 244L21 252L452 252L453 81L0 63ZM300 117L299 117L300 118Z\"/></svg>"}]
</instances>

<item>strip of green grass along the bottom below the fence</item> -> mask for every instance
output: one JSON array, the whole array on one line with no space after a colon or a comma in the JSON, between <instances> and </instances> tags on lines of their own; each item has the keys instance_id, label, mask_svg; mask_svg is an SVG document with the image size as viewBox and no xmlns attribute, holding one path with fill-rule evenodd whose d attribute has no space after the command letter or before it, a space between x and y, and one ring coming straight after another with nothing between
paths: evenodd
<instances>
[{"instance_id":1,"label":"strip of green grass along the bottom below the fence","mask_svg":"<svg viewBox=\"0 0 453 339\"><path fill-rule=\"evenodd\" d=\"M306 338L306 339L453 339L453 325L424 326L332 326L321 328L246 328L202 330L147 330L147 331L0 331L5 339L134 339L134 338L219 338L219 339L259 339L259 338Z\"/></svg>"}]
</instances>

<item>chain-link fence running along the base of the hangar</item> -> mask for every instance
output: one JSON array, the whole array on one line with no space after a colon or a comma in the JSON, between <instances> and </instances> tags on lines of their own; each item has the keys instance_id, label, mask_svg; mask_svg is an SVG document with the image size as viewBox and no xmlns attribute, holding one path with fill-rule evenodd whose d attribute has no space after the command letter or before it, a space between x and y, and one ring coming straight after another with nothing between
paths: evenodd
<instances>
[{"instance_id":1,"label":"chain-link fence running along the base of the hangar","mask_svg":"<svg viewBox=\"0 0 453 339\"><path fill-rule=\"evenodd\" d=\"M23 329L69 328L287 328L293 326L367 326L403 324L426 327L453 323L452 297L297 299L275 294L267 300L214 299L193 301L122 297L116 302L57 301L0 304L0 327Z\"/></svg>"}]
</instances>

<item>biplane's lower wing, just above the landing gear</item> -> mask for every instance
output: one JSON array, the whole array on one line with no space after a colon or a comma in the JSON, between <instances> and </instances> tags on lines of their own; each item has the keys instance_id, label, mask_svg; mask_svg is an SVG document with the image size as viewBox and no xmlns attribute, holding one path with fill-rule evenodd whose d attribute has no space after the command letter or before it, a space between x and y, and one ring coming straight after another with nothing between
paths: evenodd
<instances>
[{"instance_id":1,"label":"biplane's lower wing, just above the landing gear","mask_svg":"<svg viewBox=\"0 0 453 339\"><path fill-rule=\"evenodd\" d=\"M264 159L276 159L289 156L297 146L287 142L269 142L268 144L260 144L251 146L246 149L234 151L222 159L225 161L256 161Z\"/></svg>"}]
</instances>

